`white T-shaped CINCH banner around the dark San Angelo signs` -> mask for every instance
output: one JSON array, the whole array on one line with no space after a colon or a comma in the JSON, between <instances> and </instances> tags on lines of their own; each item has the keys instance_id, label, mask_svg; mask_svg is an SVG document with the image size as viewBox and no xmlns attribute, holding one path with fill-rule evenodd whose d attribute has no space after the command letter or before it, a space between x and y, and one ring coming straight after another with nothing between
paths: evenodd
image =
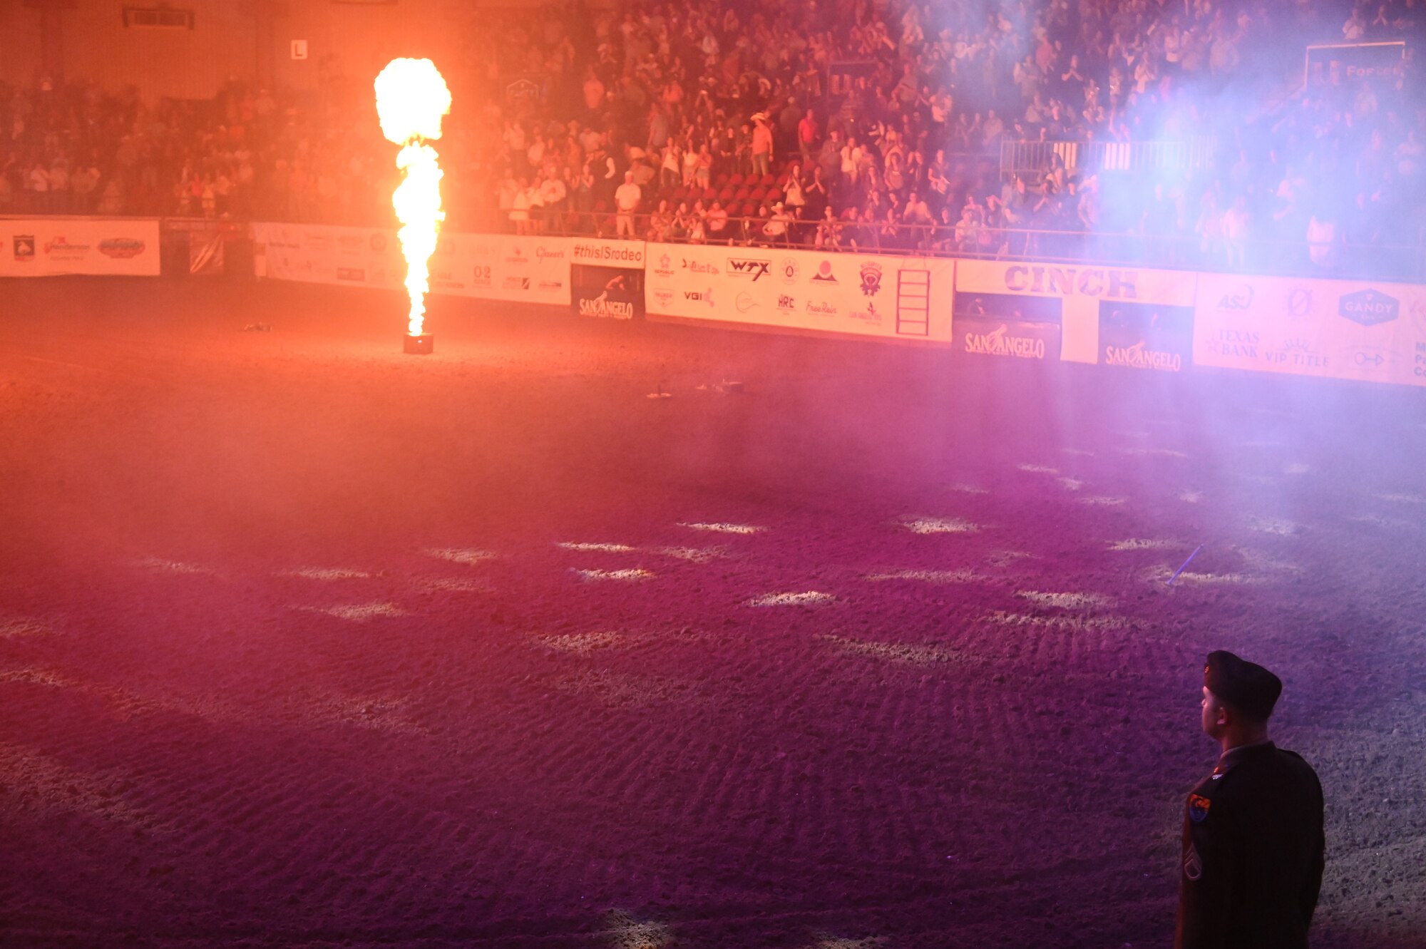
<instances>
[{"instance_id":1,"label":"white T-shaped CINCH banner around the dark San Angelo signs","mask_svg":"<svg viewBox=\"0 0 1426 949\"><path fill-rule=\"evenodd\" d=\"M1195 284L1195 274L1124 266L961 261L955 268L957 294L1060 299L1060 358L1071 362L1101 362L1101 302L1192 306Z\"/></svg>"}]
</instances>

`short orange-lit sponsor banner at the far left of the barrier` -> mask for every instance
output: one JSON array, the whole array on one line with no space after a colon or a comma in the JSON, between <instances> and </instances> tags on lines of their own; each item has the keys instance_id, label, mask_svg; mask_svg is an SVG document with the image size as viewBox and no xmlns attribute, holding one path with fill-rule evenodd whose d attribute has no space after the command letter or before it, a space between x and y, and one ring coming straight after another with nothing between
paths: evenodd
<instances>
[{"instance_id":1,"label":"short orange-lit sponsor banner at the far left of the barrier","mask_svg":"<svg viewBox=\"0 0 1426 949\"><path fill-rule=\"evenodd\" d=\"M158 276L158 221L0 218L0 276Z\"/></svg>"}]
</instances>

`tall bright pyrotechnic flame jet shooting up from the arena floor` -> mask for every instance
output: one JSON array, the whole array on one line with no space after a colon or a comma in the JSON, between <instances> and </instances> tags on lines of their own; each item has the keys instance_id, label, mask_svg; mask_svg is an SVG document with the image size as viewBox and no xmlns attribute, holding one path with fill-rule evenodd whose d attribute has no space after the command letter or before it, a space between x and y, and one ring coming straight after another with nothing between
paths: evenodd
<instances>
[{"instance_id":1,"label":"tall bright pyrotechnic flame jet shooting up from the arena floor","mask_svg":"<svg viewBox=\"0 0 1426 949\"><path fill-rule=\"evenodd\" d=\"M376 77L376 115L381 134L401 145L396 167L405 172L391 195L401 221L401 255L406 258L406 294L411 296L408 333L419 336L431 289L426 268L436 249L436 234L445 221L441 209L441 178L436 150L428 142L441 138L441 117L451 113L451 90L431 60L398 58L386 63Z\"/></svg>"}]
</instances>

